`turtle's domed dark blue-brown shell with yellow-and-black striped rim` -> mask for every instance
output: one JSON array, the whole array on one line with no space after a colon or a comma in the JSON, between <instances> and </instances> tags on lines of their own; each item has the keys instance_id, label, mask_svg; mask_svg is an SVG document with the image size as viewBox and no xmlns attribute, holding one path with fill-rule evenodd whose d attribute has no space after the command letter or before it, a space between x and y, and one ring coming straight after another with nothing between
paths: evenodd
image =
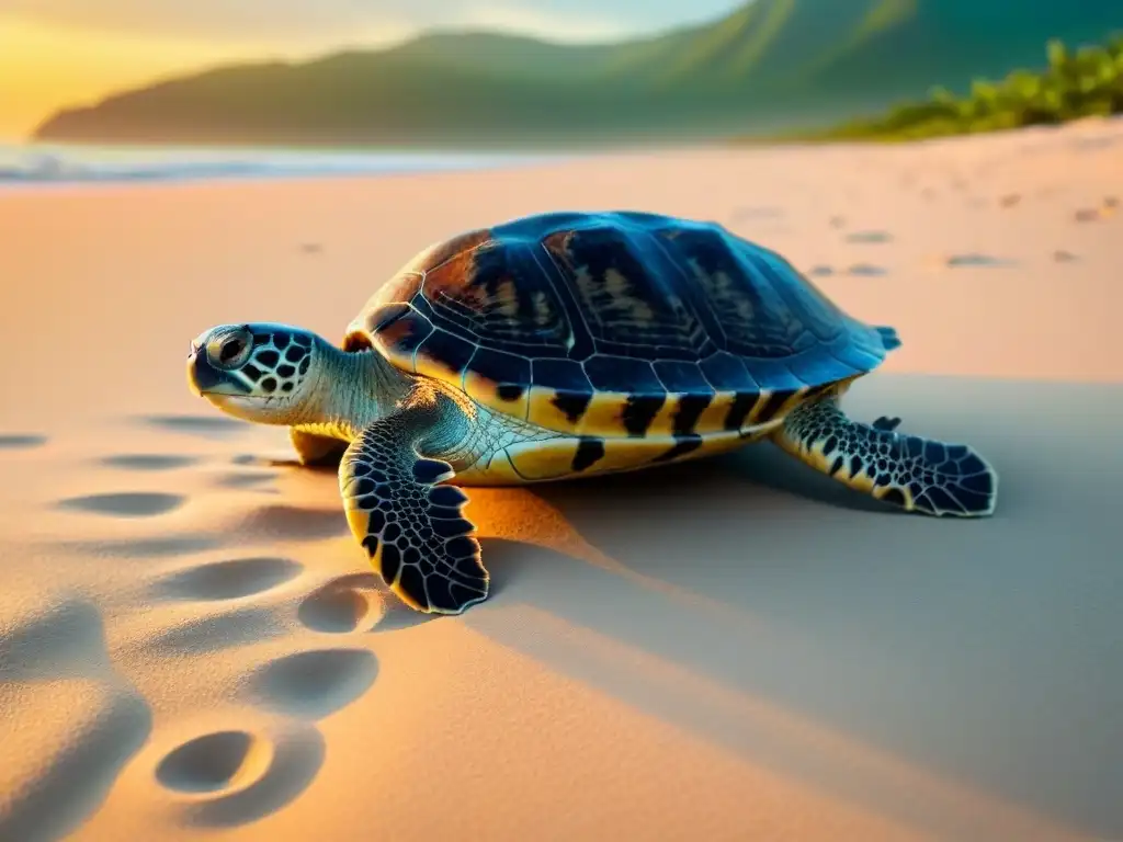
<instances>
[{"instance_id":1,"label":"turtle's domed dark blue-brown shell with yellow-and-black striped rim","mask_svg":"<svg viewBox=\"0 0 1123 842\"><path fill-rule=\"evenodd\" d=\"M721 226L615 212L432 246L351 322L344 346L372 345L548 429L696 438L777 421L896 341Z\"/></svg>"}]
</instances>

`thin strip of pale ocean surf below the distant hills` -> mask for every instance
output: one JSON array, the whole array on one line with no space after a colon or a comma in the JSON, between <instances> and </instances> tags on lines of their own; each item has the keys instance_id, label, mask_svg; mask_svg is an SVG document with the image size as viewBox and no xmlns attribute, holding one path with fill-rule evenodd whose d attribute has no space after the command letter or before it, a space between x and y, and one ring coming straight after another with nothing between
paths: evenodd
<instances>
[{"instance_id":1,"label":"thin strip of pale ocean surf below the distant hills","mask_svg":"<svg viewBox=\"0 0 1123 842\"><path fill-rule=\"evenodd\" d=\"M387 175L485 170L558 161L499 152L330 152L0 144L0 186Z\"/></svg>"}]
</instances>

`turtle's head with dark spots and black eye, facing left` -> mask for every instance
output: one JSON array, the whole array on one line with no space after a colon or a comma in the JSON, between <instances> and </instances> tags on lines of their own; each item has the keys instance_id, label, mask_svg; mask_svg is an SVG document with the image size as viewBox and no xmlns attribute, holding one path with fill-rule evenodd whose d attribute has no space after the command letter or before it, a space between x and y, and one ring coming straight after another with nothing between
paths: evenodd
<instances>
[{"instance_id":1,"label":"turtle's head with dark spots and black eye, facing left","mask_svg":"<svg viewBox=\"0 0 1123 842\"><path fill-rule=\"evenodd\" d=\"M191 390L226 413L266 424L298 420L314 394L327 344L285 324L219 324L191 341Z\"/></svg>"}]
</instances>

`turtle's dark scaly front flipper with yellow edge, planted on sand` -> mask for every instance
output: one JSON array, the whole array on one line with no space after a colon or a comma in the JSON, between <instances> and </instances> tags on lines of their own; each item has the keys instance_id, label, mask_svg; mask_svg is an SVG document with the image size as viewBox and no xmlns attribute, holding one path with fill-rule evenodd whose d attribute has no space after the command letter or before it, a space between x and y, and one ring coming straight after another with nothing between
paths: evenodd
<instances>
[{"instance_id":1,"label":"turtle's dark scaly front flipper with yellow edge, planted on sand","mask_svg":"<svg viewBox=\"0 0 1123 842\"><path fill-rule=\"evenodd\" d=\"M448 463L422 454L439 439L448 408L403 406L371 424L344 454L339 489L347 522L374 568L402 602L459 614L487 598L489 576L467 495Z\"/></svg>"}]
</instances>

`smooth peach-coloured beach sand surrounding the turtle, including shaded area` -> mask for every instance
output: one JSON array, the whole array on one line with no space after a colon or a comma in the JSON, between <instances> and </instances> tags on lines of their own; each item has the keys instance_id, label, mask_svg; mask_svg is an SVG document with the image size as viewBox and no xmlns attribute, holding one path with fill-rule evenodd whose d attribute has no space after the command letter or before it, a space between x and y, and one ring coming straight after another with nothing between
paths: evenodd
<instances>
[{"instance_id":1,"label":"smooth peach-coloured beach sand surrounding the turtle, including shaded area","mask_svg":"<svg viewBox=\"0 0 1123 842\"><path fill-rule=\"evenodd\" d=\"M1123 839L1121 201L1112 121L0 192L0 840ZM847 406L974 445L995 516L759 446L474 491L493 597L402 608L188 341L338 337L428 242L558 208L720 221L896 326Z\"/></svg>"}]
</instances>

